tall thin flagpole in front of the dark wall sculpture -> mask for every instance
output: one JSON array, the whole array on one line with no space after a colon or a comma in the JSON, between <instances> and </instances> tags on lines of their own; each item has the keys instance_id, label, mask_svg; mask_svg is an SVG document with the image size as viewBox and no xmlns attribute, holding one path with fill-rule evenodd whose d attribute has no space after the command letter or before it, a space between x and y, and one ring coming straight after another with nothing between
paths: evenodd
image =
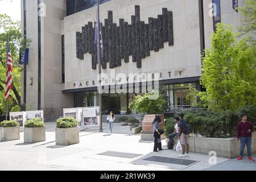
<instances>
[{"instance_id":1,"label":"tall thin flagpole in front of the dark wall sculpture","mask_svg":"<svg viewBox=\"0 0 256 182\"><path fill-rule=\"evenodd\" d=\"M100 132L102 132L102 95L101 95L101 55L100 55L100 47L101 47L101 43L100 43L100 4L99 4L99 0L97 3L97 34L98 34L98 48L97 48L97 62L98 62L98 76L100 77L100 80L98 82L98 102L100 104Z\"/></svg>"}]
</instances>

